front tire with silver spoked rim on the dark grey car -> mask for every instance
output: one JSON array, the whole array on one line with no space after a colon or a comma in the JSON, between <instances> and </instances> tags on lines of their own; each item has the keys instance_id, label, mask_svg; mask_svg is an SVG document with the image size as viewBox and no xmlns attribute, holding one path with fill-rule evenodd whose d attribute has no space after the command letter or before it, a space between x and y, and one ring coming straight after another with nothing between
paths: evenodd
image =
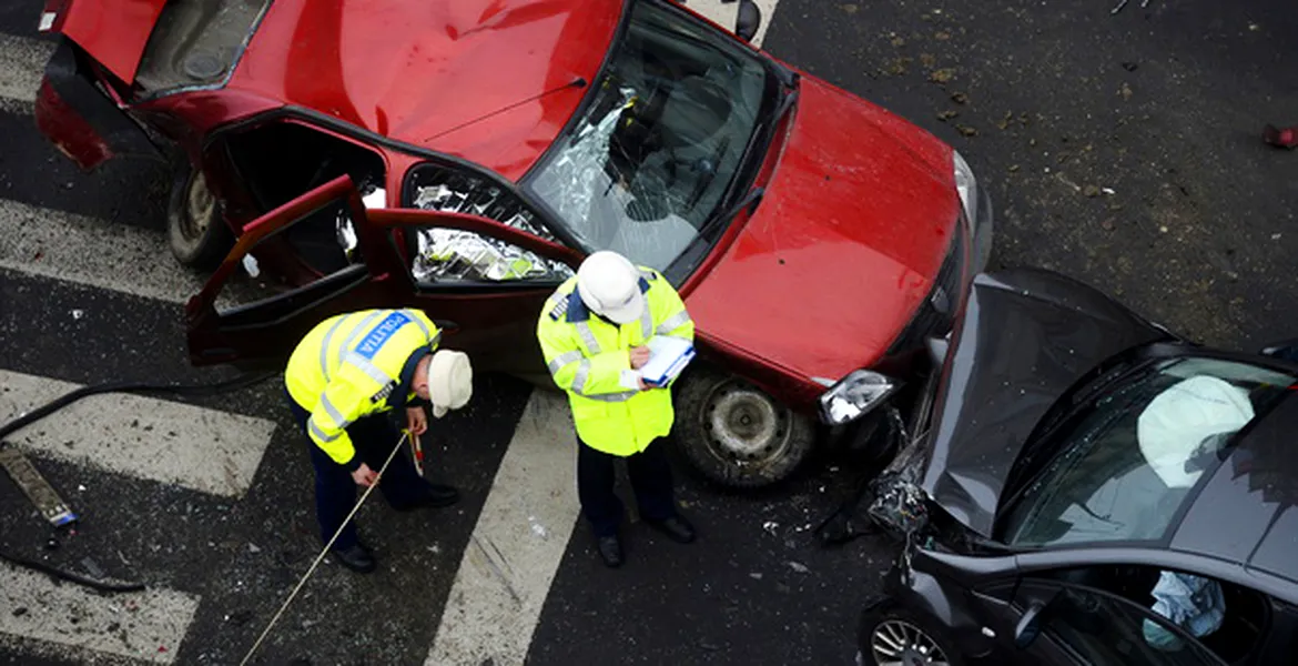
<instances>
[{"instance_id":1,"label":"front tire with silver spoked rim on the dark grey car","mask_svg":"<svg viewBox=\"0 0 1298 666\"><path fill-rule=\"evenodd\" d=\"M964 663L955 644L932 622L916 613L911 613L892 602L884 602L868 611L861 622L859 645L857 647L857 661L863 666L879 666L881 663L948 663L962 666ZM927 639L916 639L922 635ZM911 643L906 640L910 637ZM920 645L927 645L927 652L920 650ZM888 661L880 661L875 649L894 649L898 652ZM909 648L909 652L906 649ZM940 650L935 654L932 648ZM927 660L927 661L925 661Z\"/></svg>"}]
</instances>

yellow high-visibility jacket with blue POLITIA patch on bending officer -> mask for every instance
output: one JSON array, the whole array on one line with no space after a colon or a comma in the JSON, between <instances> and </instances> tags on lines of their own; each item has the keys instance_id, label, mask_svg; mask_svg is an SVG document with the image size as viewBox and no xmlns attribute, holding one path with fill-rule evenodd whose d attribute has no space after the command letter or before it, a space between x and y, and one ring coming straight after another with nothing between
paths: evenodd
<instances>
[{"instance_id":1,"label":"yellow high-visibility jacket with blue POLITIA patch on bending officer","mask_svg":"<svg viewBox=\"0 0 1298 666\"><path fill-rule=\"evenodd\" d=\"M419 310L361 310L317 325L297 344L284 371L293 400L310 413L306 431L339 465L356 470L347 427L370 414L406 406L419 360L441 331ZM393 443L396 444L396 443Z\"/></svg>"}]
</instances>

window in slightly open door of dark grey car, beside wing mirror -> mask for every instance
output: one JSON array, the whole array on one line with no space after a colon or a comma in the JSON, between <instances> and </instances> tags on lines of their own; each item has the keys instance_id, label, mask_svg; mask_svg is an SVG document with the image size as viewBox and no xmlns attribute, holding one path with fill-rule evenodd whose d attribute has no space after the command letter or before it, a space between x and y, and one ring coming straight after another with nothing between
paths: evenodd
<instances>
[{"instance_id":1,"label":"window in slightly open door of dark grey car, beside wing mirror","mask_svg":"<svg viewBox=\"0 0 1298 666\"><path fill-rule=\"evenodd\" d=\"M1224 663L1190 632L1153 609L1116 595L1067 586L1042 617L1045 634L1067 647L1083 663Z\"/></svg>"}]
</instances>

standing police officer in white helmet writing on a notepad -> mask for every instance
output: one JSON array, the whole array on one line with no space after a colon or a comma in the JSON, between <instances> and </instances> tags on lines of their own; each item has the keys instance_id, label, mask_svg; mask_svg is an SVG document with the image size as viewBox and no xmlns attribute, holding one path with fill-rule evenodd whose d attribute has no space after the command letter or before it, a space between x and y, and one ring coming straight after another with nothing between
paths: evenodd
<instances>
[{"instance_id":1,"label":"standing police officer in white helmet writing on a notepad","mask_svg":"<svg viewBox=\"0 0 1298 666\"><path fill-rule=\"evenodd\" d=\"M536 335L572 408L578 496L604 562L620 566L623 560L623 506L613 492L619 458L627 461L640 517L675 541L693 541L694 528L676 509L671 467L658 443L675 418L671 389L646 384L639 373L649 360L649 338L694 338L676 290L652 269L596 252L546 301Z\"/></svg>"}]
</instances>

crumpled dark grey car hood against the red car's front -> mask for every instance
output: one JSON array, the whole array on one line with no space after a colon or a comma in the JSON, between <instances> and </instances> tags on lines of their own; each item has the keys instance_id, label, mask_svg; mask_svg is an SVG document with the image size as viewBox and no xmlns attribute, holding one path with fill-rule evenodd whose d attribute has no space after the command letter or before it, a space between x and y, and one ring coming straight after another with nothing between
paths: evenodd
<instances>
[{"instance_id":1,"label":"crumpled dark grey car hood against the red car's front","mask_svg":"<svg viewBox=\"0 0 1298 666\"><path fill-rule=\"evenodd\" d=\"M1001 491L1028 435L1088 371L1172 338L1080 282L1037 269L975 278L946 354L922 487L957 521L992 536Z\"/></svg>"}]
</instances>

